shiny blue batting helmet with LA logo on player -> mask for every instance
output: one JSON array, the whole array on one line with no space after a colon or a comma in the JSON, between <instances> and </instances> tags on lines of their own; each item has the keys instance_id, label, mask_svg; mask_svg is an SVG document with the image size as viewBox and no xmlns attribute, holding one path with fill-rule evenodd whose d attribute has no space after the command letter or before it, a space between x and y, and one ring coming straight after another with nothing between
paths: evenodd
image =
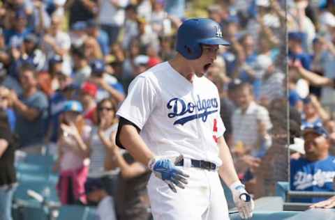
<instances>
[{"instance_id":1,"label":"shiny blue batting helmet with LA logo on player","mask_svg":"<svg viewBox=\"0 0 335 220\"><path fill-rule=\"evenodd\" d=\"M208 18L187 19L178 29L176 50L189 60L199 58L201 45L225 45L220 24Z\"/></svg>"}]
</instances>

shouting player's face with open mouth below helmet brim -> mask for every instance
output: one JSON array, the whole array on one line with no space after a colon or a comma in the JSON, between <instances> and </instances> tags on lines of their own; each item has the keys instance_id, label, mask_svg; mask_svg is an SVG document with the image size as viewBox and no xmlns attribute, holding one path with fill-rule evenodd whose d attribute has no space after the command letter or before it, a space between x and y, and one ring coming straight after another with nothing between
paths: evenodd
<instances>
[{"instance_id":1,"label":"shouting player's face with open mouth below helmet brim","mask_svg":"<svg viewBox=\"0 0 335 220\"><path fill-rule=\"evenodd\" d=\"M218 55L218 45L202 45L202 55L192 61L193 72L197 77L202 77L205 72L213 65Z\"/></svg>"}]
</instances>

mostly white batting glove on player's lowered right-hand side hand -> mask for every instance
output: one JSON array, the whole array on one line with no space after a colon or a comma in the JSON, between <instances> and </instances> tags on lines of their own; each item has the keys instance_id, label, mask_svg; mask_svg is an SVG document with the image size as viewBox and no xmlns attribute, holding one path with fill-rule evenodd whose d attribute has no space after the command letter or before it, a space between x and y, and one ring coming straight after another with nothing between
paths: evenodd
<instances>
[{"instance_id":1,"label":"mostly white batting glove on player's lowered right-hand side hand","mask_svg":"<svg viewBox=\"0 0 335 220\"><path fill-rule=\"evenodd\" d=\"M253 203L253 198L244 188L244 184L237 181L230 185L230 190L232 191L232 198L234 203L239 210L239 216L242 219L249 219L253 217L253 208L255 207Z\"/></svg>"}]
</instances>

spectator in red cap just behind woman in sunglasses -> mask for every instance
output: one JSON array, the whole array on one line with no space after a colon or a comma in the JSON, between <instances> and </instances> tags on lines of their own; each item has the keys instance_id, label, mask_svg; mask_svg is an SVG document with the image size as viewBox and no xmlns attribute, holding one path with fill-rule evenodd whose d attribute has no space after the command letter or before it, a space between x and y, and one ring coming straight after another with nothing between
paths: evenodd
<instances>
[{"instance_id":1,"label":"spectator in red cap just behind woman in sunglasses","mask_svg":"<svg viewBox=\"0 0 335 220\"><path fill-rule=\"evenodd\" d=\"M79 91L79 100L84 108L84 118L94 123L94 112L96 111L96 93L98 87L89 81L84 82Z\"/></svg>"}]
</instances>

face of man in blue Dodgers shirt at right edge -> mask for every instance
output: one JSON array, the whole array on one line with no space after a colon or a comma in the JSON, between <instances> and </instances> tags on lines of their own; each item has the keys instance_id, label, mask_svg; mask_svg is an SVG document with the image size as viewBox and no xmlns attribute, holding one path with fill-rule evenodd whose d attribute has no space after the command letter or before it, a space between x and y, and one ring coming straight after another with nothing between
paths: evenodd
<instances>
[{"instance_id":1,"label":"face of man in blue Dodgers shirt at right edge","mask_svg":"<svg viewBox=\"0 0 335 220\"><path fill-rule=\"evenodd\" d=\"M320 159L325 152L328 152L329 143L324 136L314 132L304 135L304 149L309 159Z\"/></svg>"}]
</instances>

